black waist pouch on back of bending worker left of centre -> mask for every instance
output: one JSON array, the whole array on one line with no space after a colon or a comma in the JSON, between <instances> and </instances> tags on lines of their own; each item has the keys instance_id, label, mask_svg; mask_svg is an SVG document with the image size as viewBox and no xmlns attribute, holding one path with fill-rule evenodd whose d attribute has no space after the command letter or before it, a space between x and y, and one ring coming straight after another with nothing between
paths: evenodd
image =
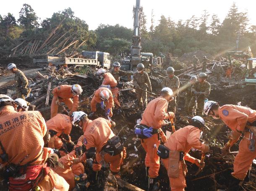
<instances>
[{"instance_id":1,"label":"black waist pouch on back of bending worker left of centre","mask_svg":"<svg viewBox=\"0 0 256 191\"><path fill-rule=\"evenodd\" d=\"M119 155L123 151L123 145L120 142L118 136L114 136L107 141L107 144L103 146L102 150L111 156Z\"/></svg>"}]
</instances>

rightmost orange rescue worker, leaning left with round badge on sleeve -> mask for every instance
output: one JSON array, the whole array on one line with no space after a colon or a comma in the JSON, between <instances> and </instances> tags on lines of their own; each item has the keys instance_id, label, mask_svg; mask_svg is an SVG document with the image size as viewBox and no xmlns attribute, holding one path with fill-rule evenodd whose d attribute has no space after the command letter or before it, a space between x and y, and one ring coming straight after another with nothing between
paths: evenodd
<instances>
[{"instance_id":1,"label":"rightmost orange rescue worker, leaning left with round badge on sleeve","mask_svg":"<svg viewBox=\"0 0 256 191\"><path fill-rule=\"evenodd\" d=\"M230 141L222 148L222 154L230 152L242 133L238 154L234 160L234 172L231 173L232 181L230 190L238 190L240 181L246 177L247 171L251 168L253 159L256 158L256 142L253 131L256 132L256 110L238 105L219 106L217 102L208 101L204 104L204 113L214 119L221 119L231 130Z\"/></svg>"}]
</instances>

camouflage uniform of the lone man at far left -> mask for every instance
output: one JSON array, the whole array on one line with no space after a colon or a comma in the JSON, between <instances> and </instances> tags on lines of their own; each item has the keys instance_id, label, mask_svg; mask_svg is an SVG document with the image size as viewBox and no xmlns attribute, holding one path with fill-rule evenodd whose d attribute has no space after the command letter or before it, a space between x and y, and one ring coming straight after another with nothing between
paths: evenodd
<instances>
[{"instance_id":1,"label":"camouflage uniform of the lone man at far left","mask_svg":"<svg viewBox=\"0 0 256 191\"><path fill-rule=\"evenodd\" d=\"M27 88L29 81L25 74L18 70L14 77L16 81L16 97L25 100L25 97L30 93L31 89ZM29 102L27 102L29 104Z\"/></svg>"}]
</instances>

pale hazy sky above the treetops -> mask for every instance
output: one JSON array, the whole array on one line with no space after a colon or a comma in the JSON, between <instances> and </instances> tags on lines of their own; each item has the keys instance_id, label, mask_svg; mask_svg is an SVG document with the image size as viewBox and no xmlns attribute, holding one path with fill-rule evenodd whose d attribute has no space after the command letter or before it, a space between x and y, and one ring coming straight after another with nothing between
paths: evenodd
<instances>
[{"instance_id":1,"label":"pale hazy sky above the treetops","mask_svg":"<svg viewBox=\"0 0 256 191\"><path fill-rule=\"evenodd\" d=\"M175 21L186 20L192 15L200 17L203 10L208 10L210 15L217 14L222 21L233 2L240 11L247 11L249 23L256 25L256 0L141 0L141 6L147 16L149 27L152 9L156 23L161 15L170 16ZM85 20L89 29L94 30L100 23L110 25L119 23L133 28L132 10L136 0L2 0L0 15L10 12L18 19L23 3L31 5L41 20L50 18L54 12L70 7L75 12L75 16Z\"/></svg>"}]
</instances>

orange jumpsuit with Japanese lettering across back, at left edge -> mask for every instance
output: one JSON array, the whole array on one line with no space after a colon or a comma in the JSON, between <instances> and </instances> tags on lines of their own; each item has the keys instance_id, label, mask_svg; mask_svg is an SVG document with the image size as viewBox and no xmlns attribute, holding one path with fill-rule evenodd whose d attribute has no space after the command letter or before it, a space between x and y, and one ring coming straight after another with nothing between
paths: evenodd
<instances>
[{"instance_id":1,"label":"orange jumpsuit with Japanese lettering across back, at left edge","mask_svg":"<svg viewBox=\"0 0 256 191\"><path fill-rule=\"evenodd\" d=\"M16 112L12 106L0 111L0 140L10 163L25 165L40 155L30 165L44 165L51 152L50 148L43 148L46 131L44 118L38 111ZM0 154L3 154L1 149ZM0 163L7 165L1 159ZM65 179L52 169L37 186L41 191L54 188L56 191L68 191L69 188Z\"/></svg>"}]
</instances>

